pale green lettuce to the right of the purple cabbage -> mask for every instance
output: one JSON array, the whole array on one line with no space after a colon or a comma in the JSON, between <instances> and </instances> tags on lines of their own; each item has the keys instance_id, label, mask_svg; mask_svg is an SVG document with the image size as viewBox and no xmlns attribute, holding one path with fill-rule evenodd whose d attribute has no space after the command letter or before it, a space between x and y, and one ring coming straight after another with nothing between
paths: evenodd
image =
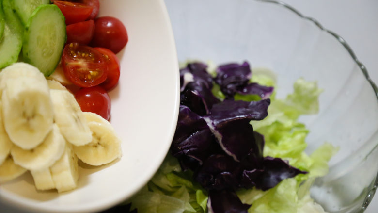
<instances>
[{"instance_id":1,"label":"pale green lettuce to the right of the purple cabbage","mask_svg":"<svg viewBox=\"0 0 378 213\"><path fill-rule=\"evenodd\" d=\"M266 75L262 75L261 79L268 82L269 86L274 83L274 80L269 81ZM257 78L256 80L258 81ZM268 116L264 120L251 121L254 130L265 137L264 156L288 160L290 165L309 173L283 180L267 192L256 189L237 192L242 202L252 204L248 212L325 213L310 197L310 186L315 177L327 174L328 161L337 148L324 143L310 156L307 155L304 150L307 147L305 139L309 130L297 120L300 115L318 112L320 93L316 82L307 82L300 78L294 83L292 94L283 100L272 99Z\"/></svg>"}]
</instances>

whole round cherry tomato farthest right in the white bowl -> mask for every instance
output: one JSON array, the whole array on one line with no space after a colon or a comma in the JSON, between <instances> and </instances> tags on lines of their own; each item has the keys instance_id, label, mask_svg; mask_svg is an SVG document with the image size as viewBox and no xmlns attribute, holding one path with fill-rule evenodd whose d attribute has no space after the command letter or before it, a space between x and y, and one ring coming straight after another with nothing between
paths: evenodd
<instances>
[{"instance_id":1,"label":"whole round cherry tomato farthest right in the white bowl","mask_svg":"<svg viewBox=\"0 0 378 213\"><path fill-rule=\"evenodd\" d=\"M93 47L107 48L117 54L126 46L127 41L126 28L119 19L103 16L94 20Z\"/></svg>"}]
</instances>

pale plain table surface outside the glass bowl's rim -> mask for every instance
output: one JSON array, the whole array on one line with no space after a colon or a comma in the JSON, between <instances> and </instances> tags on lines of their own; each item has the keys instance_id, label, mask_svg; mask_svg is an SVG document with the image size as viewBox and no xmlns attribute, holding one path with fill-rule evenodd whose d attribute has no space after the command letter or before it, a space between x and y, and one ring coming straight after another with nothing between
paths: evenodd
<instances>
[{"instance_id":1,"label":"pale plain table surface outside the glass bowl's rim","mask_svg":"<svg viewBox=\"0 0 378 213\"><path fill-rule=\"evenodd\" d=\"M341 35L378 83L378 0L282 1ZM378 194L365 213L378 213Z\"/></svg>"}]
</instances>

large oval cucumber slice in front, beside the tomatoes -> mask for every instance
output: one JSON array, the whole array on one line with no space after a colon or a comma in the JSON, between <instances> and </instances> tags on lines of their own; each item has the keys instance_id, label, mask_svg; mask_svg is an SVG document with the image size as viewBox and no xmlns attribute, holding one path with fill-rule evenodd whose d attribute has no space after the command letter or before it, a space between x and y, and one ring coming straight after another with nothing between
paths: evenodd
<instances>
[{"instance_id":1,"label":"large oval cucumber slice in front, beside the tomatoes","mask_svg":"<svg viewBox=\"0 0 378 213\"><path fill-rule=\"evenodd\" d=\"M24 31L24 61L45 76L59 64L66 41L65 19L58 6L42 4L31 14Z\"/></svg>"}]
</instances>

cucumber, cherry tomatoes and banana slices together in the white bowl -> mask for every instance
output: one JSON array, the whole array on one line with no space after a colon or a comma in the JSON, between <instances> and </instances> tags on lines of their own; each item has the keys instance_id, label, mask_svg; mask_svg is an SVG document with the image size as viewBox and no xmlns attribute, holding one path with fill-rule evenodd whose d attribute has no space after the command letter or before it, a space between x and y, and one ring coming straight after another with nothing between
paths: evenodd
<instances>
[{"instance_id":1,"label":"cucumber, cherry tomatoes and banana slices together in the white bowl","mask_svg":"<svg viewBox=\"0 0 378 213\"><path fill-rule=\"evenodd\" d=\"M37 190L73 190L78 161L122 156L110 97L125 26L98 0L0 1L0 182L30 171Z\"/></svg>"}]
</instances>

